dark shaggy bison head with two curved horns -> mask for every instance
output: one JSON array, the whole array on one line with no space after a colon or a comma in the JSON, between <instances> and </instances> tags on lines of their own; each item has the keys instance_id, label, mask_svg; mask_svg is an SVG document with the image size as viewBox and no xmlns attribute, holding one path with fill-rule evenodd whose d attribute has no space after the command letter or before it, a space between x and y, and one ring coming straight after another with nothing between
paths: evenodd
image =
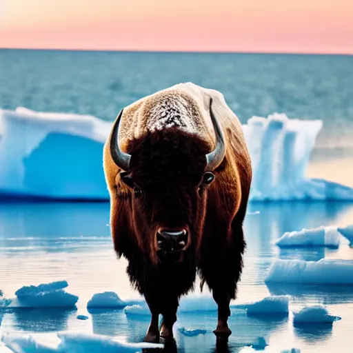
<instances>
[{"instance_id":1,"label":"dark shaggy bison head with two curved horns","mask_svg":"<svg viewBox=\"0 0 353 353\"><path fill-rule=\"evenodd\" d=\"M120 183L130 189L130 222L141 248L152 257L183 256L196 249L205 219L208 185L225 156L225 139L212 112L216 147L179 128L150 131L119 148L119 123L114 123L110 153L122 170ZM119 185L118 185L119 188Z\"/></svg>"}]
</instances>

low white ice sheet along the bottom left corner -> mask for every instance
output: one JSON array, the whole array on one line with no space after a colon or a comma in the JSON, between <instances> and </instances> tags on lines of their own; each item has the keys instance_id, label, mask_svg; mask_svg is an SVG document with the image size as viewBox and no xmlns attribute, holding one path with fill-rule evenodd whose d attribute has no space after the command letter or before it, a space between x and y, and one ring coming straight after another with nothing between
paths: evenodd
<instances>
[{"instance_id":1,"label":"low white ice sheet along the bottom left corner","mask_svg":"<svg viewBox=\"0 0 353 353\"><path fill-rule=\"evenodd\" d=\"M81 332L48 334L23 334L6 332L1 341L14 353L82 353L82 352L141 352L143 348L161 348L154 343L125 343L109 336Z\"/></svg>"}]
</instances>

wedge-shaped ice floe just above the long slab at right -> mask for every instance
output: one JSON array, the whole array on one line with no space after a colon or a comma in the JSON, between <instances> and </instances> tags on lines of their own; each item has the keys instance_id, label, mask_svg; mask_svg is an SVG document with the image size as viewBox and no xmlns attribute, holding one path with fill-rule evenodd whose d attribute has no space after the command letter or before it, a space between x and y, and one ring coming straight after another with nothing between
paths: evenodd
<instances>
[{"instance_id":1,"label":"wedge-shaped ice floe just above the long slab at right","mask_svg":"<svg viewBox=\"0 0 353 353\"><path fill-rule=\"evenodd\" d=\"M285 232L276 241L280 248L325 246L339 248L341 234L336 227L303 229L299 232Z\"/></svg>"}]
</instances>

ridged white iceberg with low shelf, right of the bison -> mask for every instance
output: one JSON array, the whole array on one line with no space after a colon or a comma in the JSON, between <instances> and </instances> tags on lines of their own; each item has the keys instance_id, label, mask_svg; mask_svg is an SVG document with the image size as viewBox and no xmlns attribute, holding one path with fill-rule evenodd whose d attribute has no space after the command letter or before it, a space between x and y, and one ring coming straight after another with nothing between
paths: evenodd
<instances>
[{"instance_id":1,"label":"ridged white iceberg with low shelf, right of the bison","mask_svg":"<svg viewBox=\"0 0 353 353\"><path fill-rule=\"evenodd\" d=\"M252 200L353 199L352 188L305 177L320 120L272 114L243 125L252 159Z\"/></svg>"}]
</instances>

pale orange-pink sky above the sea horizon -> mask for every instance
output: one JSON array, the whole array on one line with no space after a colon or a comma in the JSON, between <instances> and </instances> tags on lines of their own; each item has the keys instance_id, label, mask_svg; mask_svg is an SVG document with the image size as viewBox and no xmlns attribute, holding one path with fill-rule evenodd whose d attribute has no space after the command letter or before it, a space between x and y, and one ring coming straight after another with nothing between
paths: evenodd
<instances>
[{"instance_id":1,"label":"pale orange-pink sky above the sea horizon","mask_svg":"<svg viewBox=\"0 0 353 353\"><path fill-rule=\"evenodd\" d=\"M0 48L353 54L353 1L0 0Z\"/></svg>"}]
</instances>

